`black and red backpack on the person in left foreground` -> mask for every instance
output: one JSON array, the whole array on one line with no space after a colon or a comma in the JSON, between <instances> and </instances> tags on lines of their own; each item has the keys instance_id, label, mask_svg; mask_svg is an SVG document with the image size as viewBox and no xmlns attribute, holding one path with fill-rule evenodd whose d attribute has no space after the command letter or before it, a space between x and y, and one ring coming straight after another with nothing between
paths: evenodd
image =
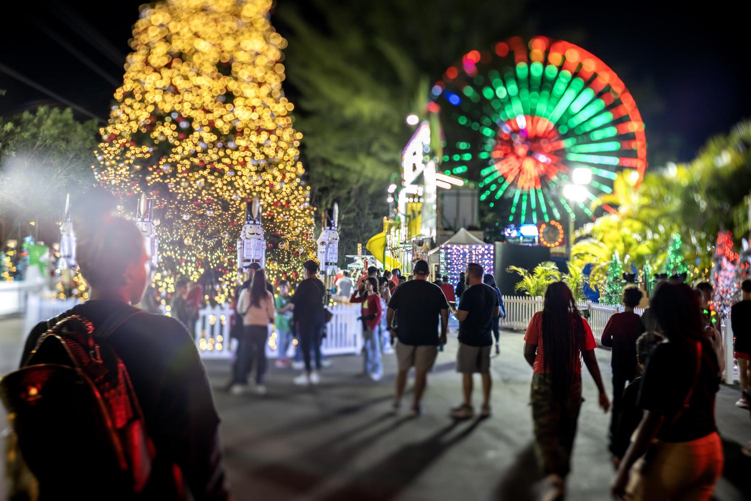
<instances>
[{"instance_id":1,"label":"black and red backpack on the person in left foreground","mask_svg":"<svg viewBox=\"0 0 751 501\"><path fill-rule=\"evenodd\" d=\"M128 370L107 343L139 313L113 315L97 328L80 315L63 318L0 379L18 448L41 490L77 488L83 498L106 487L128 497L146 486L155 448Z\"/></svg>"}]
</instances>

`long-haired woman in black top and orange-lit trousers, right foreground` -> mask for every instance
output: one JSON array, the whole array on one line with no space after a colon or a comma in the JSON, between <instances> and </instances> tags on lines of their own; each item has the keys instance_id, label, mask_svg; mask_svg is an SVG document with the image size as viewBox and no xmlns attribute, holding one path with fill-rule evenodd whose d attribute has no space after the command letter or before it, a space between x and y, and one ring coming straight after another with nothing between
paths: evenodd
<instances>
[{"instance_id":1,"label":"long-haired woman in black top and orange-lit trousers, right foreground","mask_svg":"<svg viewBox=\"0 0 751 501\"><path fill-rule=\"evenodd\" d=\"M724 462L714 416L719 365L688 285L663 285L652 307L667 341L655 346L641 376L644 418L612 493L635 501L707 501Z\"/></svg>"}]
</instances>

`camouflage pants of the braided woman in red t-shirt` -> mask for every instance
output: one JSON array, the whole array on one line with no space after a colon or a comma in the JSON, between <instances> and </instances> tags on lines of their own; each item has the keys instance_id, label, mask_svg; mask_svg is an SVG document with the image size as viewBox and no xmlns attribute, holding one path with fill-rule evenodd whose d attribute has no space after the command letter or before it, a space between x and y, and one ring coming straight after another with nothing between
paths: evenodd
<instances>
[{"instance_id":1,"label":"camouflage pants of the braided woman in red t-shirt","mask_svg":"<svg viewBox=\"0 0 751 501\"><path fill-rule=\"evenodd\" d=\"M550 375L535 374L529 400L538 464L544 475L556 473L565 477L571 469L571 453L582 402L581 376L574 380L569 397L556 402Z\"/></svg>"}]
</instances>

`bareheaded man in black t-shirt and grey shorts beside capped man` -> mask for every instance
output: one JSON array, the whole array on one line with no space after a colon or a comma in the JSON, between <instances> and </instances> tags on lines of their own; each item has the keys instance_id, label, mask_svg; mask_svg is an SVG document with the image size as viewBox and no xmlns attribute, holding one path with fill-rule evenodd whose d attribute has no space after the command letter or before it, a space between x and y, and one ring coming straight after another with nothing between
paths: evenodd
<instances>
[{"instance_id":1,"label":"bareheaded man in black t-shirt and grey shorts beside capped man","mask_svg":"<svg viewBox=\"0 0 751 501\"><path fill-rule=\"evenodd\" d=\"M500 313L498 294L482 281L481 265L467 265L468 287L464 290L455 313L459 319L459 353L457 372L463 376L464 403L451 410L457 419L469 419L475 415L472 407L472 374L482 375L483 404L481 416L490 415L490 348L493 346L493 318Z\"/></svg>"}]
</instances>

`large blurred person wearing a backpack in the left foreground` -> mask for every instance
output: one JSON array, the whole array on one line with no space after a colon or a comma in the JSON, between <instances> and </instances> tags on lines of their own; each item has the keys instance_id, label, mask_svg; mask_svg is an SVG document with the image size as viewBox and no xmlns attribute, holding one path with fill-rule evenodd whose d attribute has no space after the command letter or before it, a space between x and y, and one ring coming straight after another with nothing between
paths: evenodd
<instances>
[{"instance_id":1,"label":"large blurred person wearing a backpack in the left foreground","mask_svg":"<svg viewBox=\"0 0 751 501\"><path fill-rule=\"evenodd\" d=\"M131 306L149 279L144 240L95 193L74 213L90 299L35 326L0 381L39 499L229 499L195 343L175 318Z\"/></svg>"}]
</instances>

